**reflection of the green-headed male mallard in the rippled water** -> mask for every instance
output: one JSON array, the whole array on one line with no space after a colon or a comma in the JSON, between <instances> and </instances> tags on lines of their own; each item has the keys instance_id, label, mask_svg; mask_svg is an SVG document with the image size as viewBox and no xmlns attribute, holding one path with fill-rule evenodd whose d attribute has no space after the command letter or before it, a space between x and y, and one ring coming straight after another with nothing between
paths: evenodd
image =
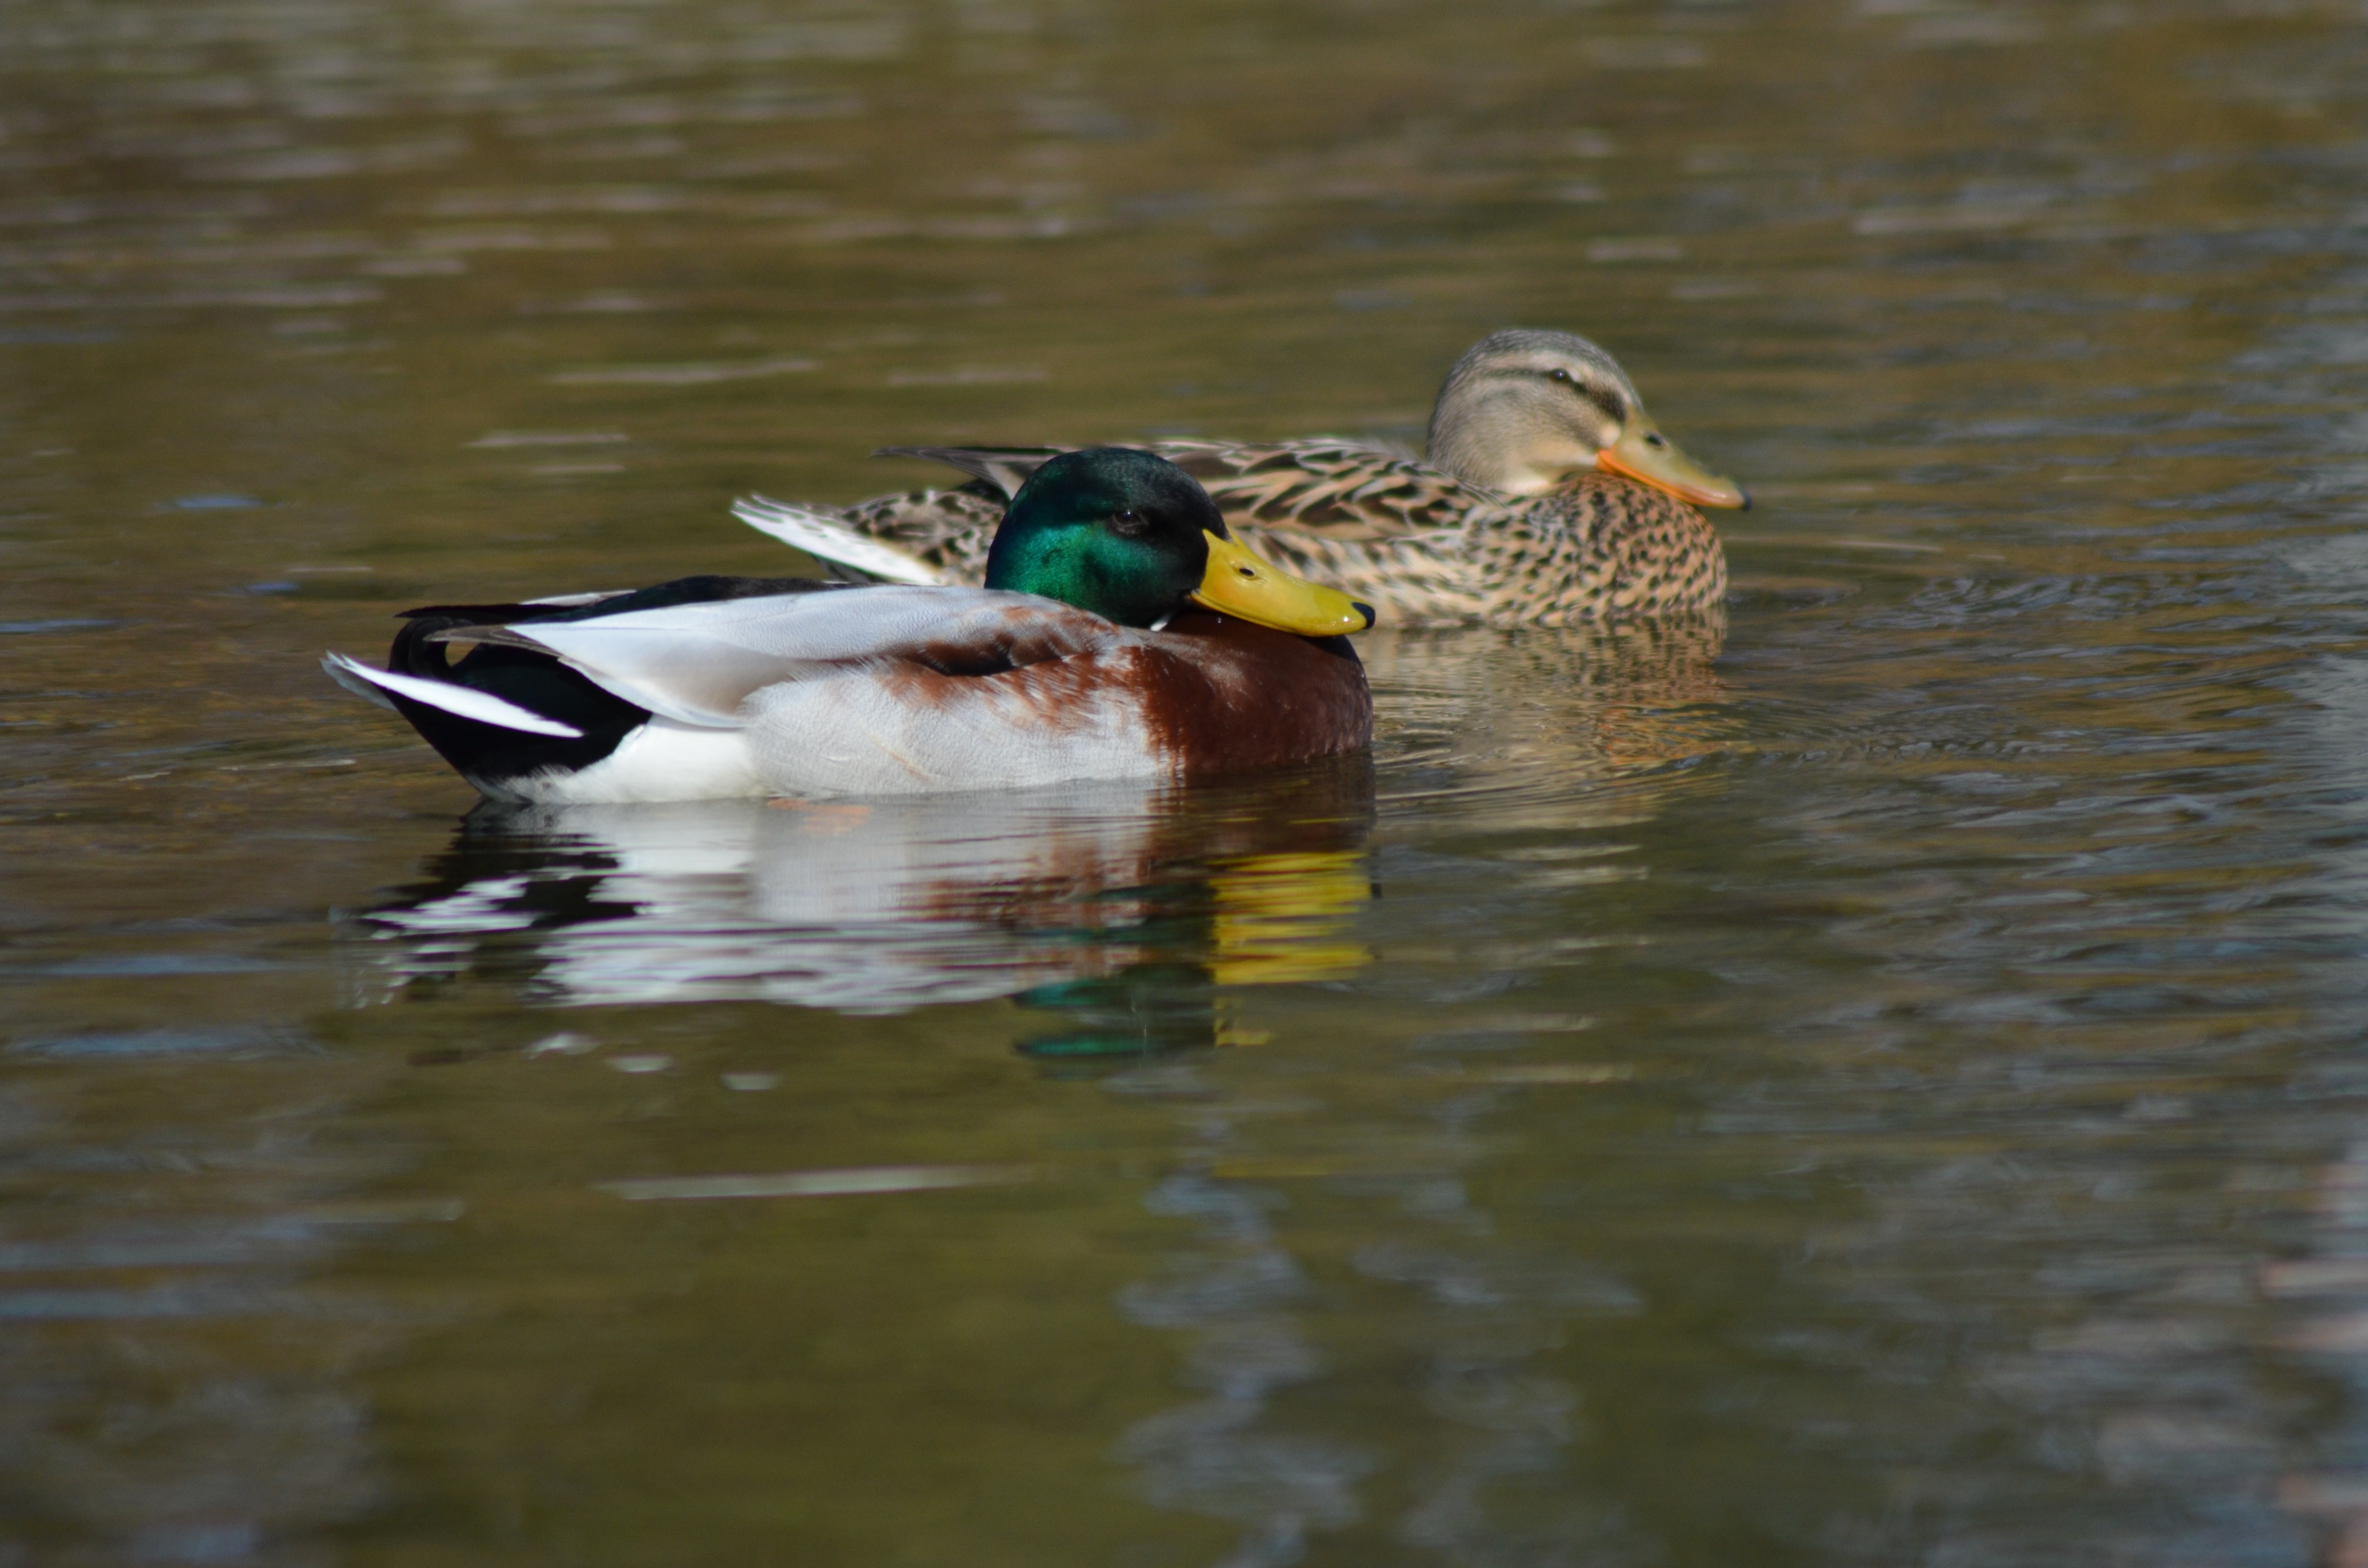
<instances>
[{"instance_id":1,"label":"reflection of the green-headed male mallard in the rippled water","mask_svg":"<svg viewBox=\"0 0 2368 1568\"><path fill-rule=\"evenodd\" d=\"M358 921L369 988L888 1014L1018 997L1103 1056L1243 1037L1215 985L1359 969L1371 765L886 803L481 805Z\"/></svg>"}]
</instances>

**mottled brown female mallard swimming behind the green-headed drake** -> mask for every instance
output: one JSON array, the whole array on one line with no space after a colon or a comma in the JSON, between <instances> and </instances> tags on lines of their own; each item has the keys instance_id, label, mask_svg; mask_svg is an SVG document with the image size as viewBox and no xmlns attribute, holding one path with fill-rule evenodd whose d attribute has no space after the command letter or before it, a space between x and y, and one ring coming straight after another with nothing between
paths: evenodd
<instances>
[{"instance_id":1,"label":"mottled brown female mallard swimming behind the green-headed drake","mask_svg":"<svg viewBox=\"0 0 2368 1568\"><path fill-rule=\"evenodd\" d=\"M1061 448L886 448L971 474L957 490L845 512L746 500L736 516L893 583L976 583L1002 497ZM1568 332L1480 339L1440 388L1430 462L1350 441L1160 441L1227 521L1295 573L1402 625L1570 625L1726 597L1726 552L1695 507L1748 507L1643 412L1620 362Z\"/></svg>"}]
</instances>

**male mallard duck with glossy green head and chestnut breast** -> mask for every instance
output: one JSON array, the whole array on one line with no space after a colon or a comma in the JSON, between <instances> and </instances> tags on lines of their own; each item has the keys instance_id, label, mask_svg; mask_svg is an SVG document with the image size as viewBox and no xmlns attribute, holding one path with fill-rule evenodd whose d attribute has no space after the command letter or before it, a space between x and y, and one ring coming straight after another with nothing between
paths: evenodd
<instances>
[{"instance_id":1,"label":"male mallard duck with glossy green head and chestnut breast","mask_svg":"<svg viewBox=\"0 0 2368 1568\"><path fill-rule=\"evenodd\" d=\"M339 685L497 801L886 796L1165 779L1373 737L1347 595L1234 542L1208 493L1127 448L1044 462L985 587L680 578L410 611L393 668ZM455 642L476 647L450 661Z\"/></svg>"}]
</instances>

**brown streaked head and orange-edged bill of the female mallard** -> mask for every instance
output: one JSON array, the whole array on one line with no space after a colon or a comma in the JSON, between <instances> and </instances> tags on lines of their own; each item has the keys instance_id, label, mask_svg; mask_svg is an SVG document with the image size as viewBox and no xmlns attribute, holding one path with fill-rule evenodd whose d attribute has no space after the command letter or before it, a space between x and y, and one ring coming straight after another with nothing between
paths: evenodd
<instances>
[{"instance_id":1,"label":"brown streaked head and orange-edged bill of the female mallard","mask_svg":"<svg viewBox=\"0 0 2368 1568\"><path fill-rule=\"evenodd\" d=\"M1752 505L1660 433L1620 360L1570 332L1516 327L1473 343L1430 410L1430 462L1508 495L1606 469L1695 507Z\"/></svg>"}]
</instances>

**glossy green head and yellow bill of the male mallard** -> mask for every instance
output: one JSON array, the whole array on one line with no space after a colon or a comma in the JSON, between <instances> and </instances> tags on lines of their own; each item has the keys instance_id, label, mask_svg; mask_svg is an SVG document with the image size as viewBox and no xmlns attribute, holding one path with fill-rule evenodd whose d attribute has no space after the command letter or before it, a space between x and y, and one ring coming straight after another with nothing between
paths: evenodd
<instances>
[{"instance_id":1,"label":"glossy green head and yellow bill of the male mallard","mask_svg":"<svg viewBox=\"0 0 2368 1568\"><path fill-rule=\"evenodd\" d=\"M1373 625L1369 606L1238 545L1191 474L1118 445L1063 452L1028 476L987 550L987 587L1120 625L1163 625L1189 604L1302 637Z\"/></svg>"}]
</instances>

